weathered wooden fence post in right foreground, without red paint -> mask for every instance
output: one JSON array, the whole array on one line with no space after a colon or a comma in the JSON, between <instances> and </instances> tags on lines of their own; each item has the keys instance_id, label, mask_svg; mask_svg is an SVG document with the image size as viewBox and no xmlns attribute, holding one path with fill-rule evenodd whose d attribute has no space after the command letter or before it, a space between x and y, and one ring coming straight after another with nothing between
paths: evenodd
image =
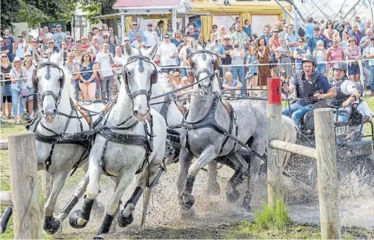
<instances>
[{"instance_id":1,"label":"weathered wooden fence post in right foreground, without red paint","mask_svg":"<svg viewBox=\"0 0 374 240\"><path fill-rule=\"evenodd\" d=\"M322 239L340 239L337 152L332 109L314 110Z\"/></svg>"}]
</instances>

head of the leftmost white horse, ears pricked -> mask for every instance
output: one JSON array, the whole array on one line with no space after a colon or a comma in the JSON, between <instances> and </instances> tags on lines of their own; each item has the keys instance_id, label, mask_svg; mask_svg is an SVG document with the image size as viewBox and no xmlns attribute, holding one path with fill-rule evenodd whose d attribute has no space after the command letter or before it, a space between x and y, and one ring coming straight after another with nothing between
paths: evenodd
<instances>
[{"instance_id":1,"label":"head of the leftmost white horse, ears pricked","mask_svg":"<svg viewBox=\"0 0 374 240\"><path fill-rule=\"evenodd\" d=\"M61 50L58 54L52 54L48 61L34 51L33 59L37 64L33 73L33 86L38 92L40 112L45 121L52 123L59 112L58 105L64 88L64 52Z\"/></svg>"}]
</instances>

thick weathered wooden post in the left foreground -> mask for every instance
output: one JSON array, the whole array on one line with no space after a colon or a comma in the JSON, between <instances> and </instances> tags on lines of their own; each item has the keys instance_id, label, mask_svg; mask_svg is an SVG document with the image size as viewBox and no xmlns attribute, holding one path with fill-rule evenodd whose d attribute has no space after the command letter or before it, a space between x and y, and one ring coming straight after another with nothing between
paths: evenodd
<instances>
[{"instance_id":1,"label":"thick weathered wooden post in the left foreground","mask_svg":"<svg viewBox=\"0 0 374 240\"><path fill-rule=\"evenodd\" d=\"M41 239L34 133L8 136L14 239Z\"/></svg>"}]
</instances>

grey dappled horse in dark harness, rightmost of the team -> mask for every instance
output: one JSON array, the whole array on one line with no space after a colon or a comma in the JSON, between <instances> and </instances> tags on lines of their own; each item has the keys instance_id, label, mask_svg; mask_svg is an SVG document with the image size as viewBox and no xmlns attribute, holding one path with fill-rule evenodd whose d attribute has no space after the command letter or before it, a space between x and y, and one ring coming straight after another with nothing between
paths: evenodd
<instances>
[{"instance_id":1,"label":"grey dappled horse in dark harness, rightmost of the team","mask_svg":"<svg viewBox=\"0 0 374 240\"><path fill-rule=\"evenodd\" d=\"M230 201L239 198L235 187L247 173L248 162L237 152L242 146L227 138L222 129L249 145L259 155L264 155L267 145L267 116L260 104L241 100L232 101L231 107L225 107L221 100L221 90L214 69L218 68L218 59L211 53L213 47L210 51L201 51L200 46L194 42L191 44L192 56L189 61L196 74L196 80L200 82L194 85L189 112L185 119L186 123L194 125L194 128L184 129L180 137L180 176L177 188L182 214L194 205L192 188L199 169L206 164L211 164L214 169L214 160L218 156L227 156L227 163L235 169L235 174L228 182L226 196ZM250 177L243 200L243 206L247 210L250 210L250 199L261 163L262 160L255 154L250 156ZM209 176L215 177L211 174Z\"/></svg>"}]
</instances>

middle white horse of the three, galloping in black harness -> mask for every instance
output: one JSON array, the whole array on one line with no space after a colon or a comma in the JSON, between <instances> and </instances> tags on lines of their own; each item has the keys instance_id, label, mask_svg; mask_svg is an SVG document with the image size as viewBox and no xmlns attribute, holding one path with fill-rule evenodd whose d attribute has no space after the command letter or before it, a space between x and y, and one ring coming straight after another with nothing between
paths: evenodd
<instances>
[{"instance_id":1,"label":"middle white horse of the three, galloping in black harness","mask_svg":"<svg viewBox=\"0 0 374 240\"><path fill-rule=\"evenodd\" d=\"M124 51L129 56L127 65L122 69L124 83L120 85L117 102L102 121L90 152L88 172L83 179L83 182L88 181L86 199L81 210L71 213L70 224L74 228L86 226L99 193L100 175L112 175L115 193L107 204L96 239L103 239L109 232L124 192L142 169L136 189L124 205L124 210L119 211L117 222L119 227L126 227L134 220L134 208L145 188L144 226L151 198L150 187L160 176L157 173L162 173L160 164L165 154L166 123L163 116L149 107L152 84L157 82L157 69L151 63L156 49L156 44L144 52L132 48L129 43L124 45ZM149 184L152 179L152 184Z\"/></svg>"}]
</instances>

